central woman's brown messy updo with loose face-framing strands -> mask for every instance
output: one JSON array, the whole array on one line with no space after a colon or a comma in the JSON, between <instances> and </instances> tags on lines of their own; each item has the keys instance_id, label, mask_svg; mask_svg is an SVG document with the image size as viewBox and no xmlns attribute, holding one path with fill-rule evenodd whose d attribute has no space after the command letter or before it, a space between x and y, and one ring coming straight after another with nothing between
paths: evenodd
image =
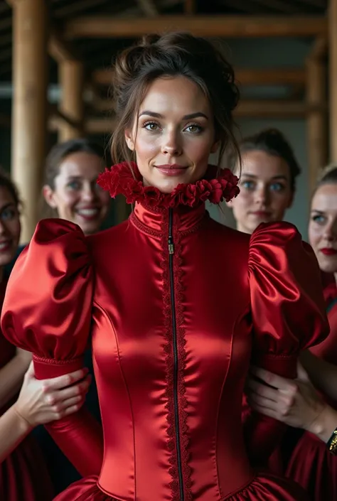
<instances>
[{"instance_id":1,"label":"central woman's brown messy updo with loose face-framing strands","mask_svg":"<svg viewBox=\"0 0 337 501\"><path fill-rule=\"evenodd\" d=\"M230 63L210 42L190 33L149 35L124 50L115 61L112 94L117 127L111 141L114 163L132 161L124 131L132 127L151 82L159 77L187 77L210 101L216 140L220 142L219 162L230 149L240 158L234 135L232 111L239 90Z\"/></svg>"}]
</instances>

